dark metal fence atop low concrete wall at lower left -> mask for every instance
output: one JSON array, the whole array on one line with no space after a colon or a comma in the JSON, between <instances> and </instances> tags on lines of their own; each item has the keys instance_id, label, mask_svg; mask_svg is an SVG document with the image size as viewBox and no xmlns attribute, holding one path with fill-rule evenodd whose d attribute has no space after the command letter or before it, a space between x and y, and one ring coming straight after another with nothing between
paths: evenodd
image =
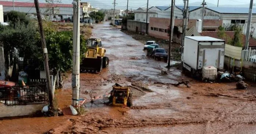
<instances>
[{"instance_id":1,"label":"dark metal fence atop low concrete wall at lower left","mask_svg":"<svg viewBox=\"0 0 256 134\"><path fill-rule=\"evenodd\" d=\"M25 105L48 101L47 86L29 85L0 87L0 103L6 105Z\"/></svg>"}]
</instances>

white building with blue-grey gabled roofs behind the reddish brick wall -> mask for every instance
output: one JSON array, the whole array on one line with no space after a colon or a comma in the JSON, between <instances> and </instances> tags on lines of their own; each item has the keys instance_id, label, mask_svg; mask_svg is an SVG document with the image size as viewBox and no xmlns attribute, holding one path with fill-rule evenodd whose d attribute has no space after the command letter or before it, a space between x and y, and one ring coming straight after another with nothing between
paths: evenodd
<instances>
[{"instance_id":1,"label":"white building with blue-grey gabled roofs behind the reddish brick wall","mask_svg":"<svg viewBox=\"0 0 256 134\"><path fill-rule=\"evenodd\" d=\"M134 10L135 20L149 22L150 17L154 18L170 18L171 17L171 7L166 6L156 6L150 7L147 11L147 8L138 8ZM182 9L179 9L175 6L174 16L176 19L181 19L182 17Z\"/></svg>"}]
</instances>

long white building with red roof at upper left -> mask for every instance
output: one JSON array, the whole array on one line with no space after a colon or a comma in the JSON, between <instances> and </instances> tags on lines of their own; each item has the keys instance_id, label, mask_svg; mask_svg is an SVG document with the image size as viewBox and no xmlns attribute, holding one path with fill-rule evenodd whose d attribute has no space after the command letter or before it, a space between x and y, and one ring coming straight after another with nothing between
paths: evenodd
<instances>
[{"instance_id":1,"label":"long white building with red roof at upper left","mask_svg":"<svg viewBox=\"0 0 256 134\"><path fill-rule=\"evenodd\" d=\"M3 12L13 11L13 2L12 1L0 1L0 5L3 5ZM42 18L49 16L49 10L51 14L50 19L55 21L60 20L72 20L73 16L73 5L72 4L47 4L39 3L40 11ZM14 11L25 12L27 14L35 17L36 8L34 3L29 2L14 2ZM82 8L80 9L80 14L82 16ZM36 18L36 17L35 17Z\"/></svg>"}]
</instances>

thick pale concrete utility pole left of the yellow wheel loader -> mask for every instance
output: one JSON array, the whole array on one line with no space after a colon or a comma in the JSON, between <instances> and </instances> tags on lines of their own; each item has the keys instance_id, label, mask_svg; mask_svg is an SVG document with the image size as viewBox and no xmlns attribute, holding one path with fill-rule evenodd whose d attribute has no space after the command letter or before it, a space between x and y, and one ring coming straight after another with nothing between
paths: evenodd
<instances>
[{"instance_id":1,"label":"thick pale concrete utility pole left of the yellow wheel loader","mask_svg":"<svg viewBox=\"0 0 256 134\"><path fill-rule=\"evenodd\" d=\"M72 71L72 106L79 106L80 88L80 0L73 4L73 71Z\"/></svg>"}]
</instances>

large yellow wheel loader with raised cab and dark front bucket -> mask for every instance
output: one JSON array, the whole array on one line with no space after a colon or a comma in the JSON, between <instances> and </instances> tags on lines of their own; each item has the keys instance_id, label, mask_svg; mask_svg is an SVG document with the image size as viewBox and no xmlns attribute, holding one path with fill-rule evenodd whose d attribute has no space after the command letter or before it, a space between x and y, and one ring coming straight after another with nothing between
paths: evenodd
<instances>
[{"instance_id":1,"label":"large yellow wheel loader with raised cab and dark front bucket","mask_svg":"<svg viewBox=\"0 0 256 134\"><path fill-rule=\"evenodd\" d=\"M109 66L109 58L105 56L106 49L102 47L101 39L86 39L86 46L87 50L80 65L80 72L97 73Z\"/></svg>"}]
</instances>

